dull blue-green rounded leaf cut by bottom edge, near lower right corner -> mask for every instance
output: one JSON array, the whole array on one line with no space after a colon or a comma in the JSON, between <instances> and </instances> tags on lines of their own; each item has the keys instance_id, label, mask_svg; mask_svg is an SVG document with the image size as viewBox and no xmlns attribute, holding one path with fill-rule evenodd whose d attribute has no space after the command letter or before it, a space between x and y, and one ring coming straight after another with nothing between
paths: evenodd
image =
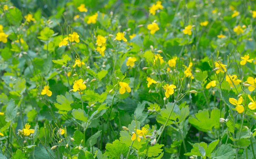
<instances>
[{"instance_id":1,"label":"dull blue-green rounded leaf cut by bottom edge, near lower right corner","mask_svg":"<svg viewBox=\"0 0 256 159\"><path fill-rule=\"evenodd\" d=\"M212 159L234 159L236 150L229 144L223 144L211 155Z\"/></svg>"}]
</instances>

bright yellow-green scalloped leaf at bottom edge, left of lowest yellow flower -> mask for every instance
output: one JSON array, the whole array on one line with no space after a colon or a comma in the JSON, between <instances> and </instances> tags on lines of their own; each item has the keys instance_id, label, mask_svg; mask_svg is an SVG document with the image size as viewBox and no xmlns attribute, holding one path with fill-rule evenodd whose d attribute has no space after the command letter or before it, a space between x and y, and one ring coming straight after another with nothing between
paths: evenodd
<instances>
[{"instance_id":1,"label":"bright yellow-green scalloped leaf at bottom edge, left of lowest yellow flower","mask_svg":"<svg viewBox=\"0 0 256 159\"><path fill-rule=\"evenodd\" d=\"M115 140L113 143L107 143L105 154L110 157L110 159L119 159L120 156L126 156L128 153L128 146L121 143L119 140Z\"/></svg>"}]
</instances>

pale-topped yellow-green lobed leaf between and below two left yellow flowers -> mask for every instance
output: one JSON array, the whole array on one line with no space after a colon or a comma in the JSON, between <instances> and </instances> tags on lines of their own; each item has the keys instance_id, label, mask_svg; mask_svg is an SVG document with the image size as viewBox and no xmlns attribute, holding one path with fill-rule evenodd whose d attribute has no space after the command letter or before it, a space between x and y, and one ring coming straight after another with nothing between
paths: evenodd
<instances>
[{"instance_id":1,"label":"pale-topped yellow-green lobed leaf between and below two left yellow flowers","mask_svg":"<svg viewBox=\"0 0 256 159\"><path fill-rule=\"evenodd\" d=\"M59 114L67 114L67 112L72 109L70 104L74 102L72 95L68 92L66 92L65 96L58 95L56 101L58 103L54 103L54 105L56 108L58 108Z\"/></svg>"}]
</instances>

